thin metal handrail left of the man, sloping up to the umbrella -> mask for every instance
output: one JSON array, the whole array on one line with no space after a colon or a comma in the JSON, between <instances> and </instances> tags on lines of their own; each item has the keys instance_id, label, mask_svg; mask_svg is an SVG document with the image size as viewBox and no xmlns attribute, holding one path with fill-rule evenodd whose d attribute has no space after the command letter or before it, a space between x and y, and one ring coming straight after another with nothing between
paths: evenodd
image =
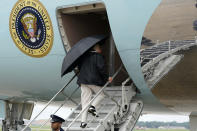
<instances>
[{"instance_id":1,"label":"thin metal handrail left of the man, sloping up to the umbrella","mask_svg":"<svg viewBox=\"0 0 197 131\"><path fill-rule=\"evenodd\" d=\"M38 117L40 114L53 102L53 100L61 93L64 91L64 89L74 80L74 78L77 76L78 73L75 73L75 75L70 79L70 81L63 86L54 96L51 98L51 100L45 105L45 107L23 128L22 131L25 131L27 127L31 125L31 123Z\"/></svg>"}]
</instances>

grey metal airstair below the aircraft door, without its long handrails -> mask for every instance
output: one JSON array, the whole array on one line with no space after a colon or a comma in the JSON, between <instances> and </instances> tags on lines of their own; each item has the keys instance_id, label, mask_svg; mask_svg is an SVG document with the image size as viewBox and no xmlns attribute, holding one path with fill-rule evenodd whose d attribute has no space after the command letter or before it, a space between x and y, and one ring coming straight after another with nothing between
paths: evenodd
<instances>
[{"instance_id":1,"label":"grey metal airstair below the aircraft door, without its long handrails","mask_svg":"<svg viewBox=\"0 0 197 131\"><path fill-rule=\"evenodd\" d=\"M97 109L99 117L88 115L88 127L82 129L81 105L79 105L66 119L64 129L66 131L130 131L136 124L142 109L143 103L134 100L136 88L134 85L125 86L130 79L122 83L122 87L106 87L103 91L106 95L100 107Z\"/></svg>"}]
</instances>

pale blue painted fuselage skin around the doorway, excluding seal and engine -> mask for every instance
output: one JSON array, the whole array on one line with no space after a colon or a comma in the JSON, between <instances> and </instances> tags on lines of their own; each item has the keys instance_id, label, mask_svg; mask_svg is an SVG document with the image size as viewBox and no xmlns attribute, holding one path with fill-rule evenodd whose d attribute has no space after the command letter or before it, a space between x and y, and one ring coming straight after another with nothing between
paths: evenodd
<instances>
[{"instance_id":1,"label":"pale blue painted fuselage skin around the doorway, excluding seal and engine","mask_svg":"<svg viewBox=\"0 0 197 131\"><path fill-rule=\"evenodd\" d=\"M161 0L116 0L113 2L109 0L40 0L49 14L48 19L51 20L51 31L53 31L51 37L53 37L53 39L51 39L51 50L38 57L28 55L28 53L19 49L20 47L17 46L17 41L15 41L15 38L11 35L13 32L10 30L11 27L9 26L11 21L10 17L12 18L10 15L16 2L17 1L2 0L0 4L1 100L25 102L47 101L52 98L52 96L74 75L74 72L72 72L61 78L61 66L66 51L57 20L58 9L102 3L106 8L110 29L122 63L141 92L137 97L142 99L145 104L144 113L177 114L177 112L166 107L165 104L164 106L160 100L155 97L151 89L147 87L141 70L140 49L142 36L144 35L144 31L151 16L159 6ZM44 23L46 25L46 21L44 21ZM25 28L21 30L25 32ZM36 34L37 36L33 37L31 30L29 30L29 34L26 31L26 35L27 39L32 43L34 43L36 39L39 41L37 38L39 33ZM151 37L151 35L151 33L148 34L149 37ZM166 39L167 38L165 38L165 40ZM176 37L176 39L178 38ZM75 79L68 89L64 91L64 94L69 96L77 87L78 85ZM73 98L79 97L80 91L73 96ZM56 100L62 101L64 99L65 96L61 94ZM188 115L191 111L187 110L187 112L184 113Z\"/></svg>"}]
</instances>

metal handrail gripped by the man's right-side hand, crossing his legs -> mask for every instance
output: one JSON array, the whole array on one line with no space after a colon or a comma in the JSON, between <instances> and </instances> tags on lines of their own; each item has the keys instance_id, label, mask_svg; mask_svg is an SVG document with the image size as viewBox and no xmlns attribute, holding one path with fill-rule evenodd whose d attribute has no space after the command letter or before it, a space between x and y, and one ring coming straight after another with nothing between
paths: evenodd
<instances>
[{"instance_id":1,"label":"metal handrail gripped by the man's right-side hand, crossing his legs","mask_svg":"<svg viewBox=\"0 0 197 131\"><path fill-rule=\"evenodd\" d=\"M122 64L121 66L118 68L118 70L115 72L115 74L112 76L112 81L114 80L114 78L118 75L118 73L121 71L122 69ZM67 131L68 129L70 129L70 127L72 126L72 124L81 116L81 114L87 110L87 108L92 104L92 102L100 95L100 93L107 87L107 85L109 85L110 82L107 81L105 83L105 85L99 90L99 92L92 98L92 100L85 106L85 108L75 117L75 119L68 125L68 127L66 128L65 131Z\"/></svg>"}]
</instances>

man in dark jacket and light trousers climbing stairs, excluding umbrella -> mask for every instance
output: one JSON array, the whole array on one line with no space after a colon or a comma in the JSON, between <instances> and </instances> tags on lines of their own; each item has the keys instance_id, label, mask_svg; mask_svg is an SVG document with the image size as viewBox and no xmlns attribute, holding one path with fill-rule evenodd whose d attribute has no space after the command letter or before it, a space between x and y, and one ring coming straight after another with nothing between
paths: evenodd
<instances>
[{"instance_id":1,"label":"man in dark jacket and light trousers climbing stairs, excluding umbrella","mask_svg":"<svg viewBox=\"0 0 197 131\"><path fill-rule=\"evenodd\" d=\"M112 81L112 77L107 76L105 69L104 58L101 55L101 48L99 44L96 44L90 51L88 51L79 62L79 75L77 83L81 87L81 103L82 110L91 101L92 93L97 93L101 87L107 82ZM100 101L105 97L104 93L101 94L93 101L88 110L82 114L81 128L87 126L87 113L91 113L93 116L98 117L96 113L96 107Z\"/></svg>"}]
</instances>

